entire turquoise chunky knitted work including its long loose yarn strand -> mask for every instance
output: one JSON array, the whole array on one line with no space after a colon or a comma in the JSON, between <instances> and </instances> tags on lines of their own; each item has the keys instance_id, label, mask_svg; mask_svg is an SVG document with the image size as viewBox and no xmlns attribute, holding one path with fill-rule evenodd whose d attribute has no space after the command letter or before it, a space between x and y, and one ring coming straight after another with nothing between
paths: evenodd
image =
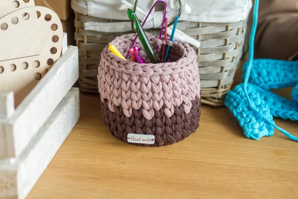
<instances>
[{"instance_id":1,"label":"entire turquoise chunky knitted work including its long loose yarn strand","mask_svg":"<svg viewBox=\"0 0 298 199\"><path fill-rule=\"evenodd\" d=\"M248 138L258 140L263 136L272 136L276 128L290 139L298 141L298 137L273 121L273 116L298 121L298 104L267 91L297 85L292 98L298 102L298 62L253 60L258 6L259 0L255 0L249 61L243 68L244 83L227 93L225 105L237 118Z\"/></svg>"}]
</instances>

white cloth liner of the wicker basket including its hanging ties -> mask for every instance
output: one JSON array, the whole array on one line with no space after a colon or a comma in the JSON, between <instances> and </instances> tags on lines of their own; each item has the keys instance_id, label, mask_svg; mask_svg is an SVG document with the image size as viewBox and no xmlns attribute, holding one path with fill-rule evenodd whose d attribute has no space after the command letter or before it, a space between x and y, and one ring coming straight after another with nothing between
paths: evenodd
<instances>
[{"instance_id":1,"label":"white cloth liner of the wicker basket including its hanging ties","mask_svg":"<svg viewBox=\"0 0 298 199\"><path fill-rule=\"evenodd\" d=\"M139 0L136 14L144 21L156 0ZM179 12L178 0L166 0L167 17L173 21ZM97 18L127 20L123 22L84 22L85 30L97 32L131 31L127 9L134 7L135 0L72 0L72 8L81 14ZM246 20L252 7L252 0L182 0L182 13L179 20L211 23L233 23ZM163 11L152 11L144 28L161 26ZM168 28L171 33L172 26ZM195 47L200 42L177 29L175 38L188 42Z\"/></svg>"}]
</instances>

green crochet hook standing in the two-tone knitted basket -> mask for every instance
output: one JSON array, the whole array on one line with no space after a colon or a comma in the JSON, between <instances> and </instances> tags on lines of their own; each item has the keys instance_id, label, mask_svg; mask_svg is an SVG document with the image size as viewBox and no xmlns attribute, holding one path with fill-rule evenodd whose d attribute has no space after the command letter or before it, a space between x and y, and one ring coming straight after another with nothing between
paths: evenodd
<instances>
[{"instance_id":1,"label":"green crochet hook standing in the two-tone knitted basket","mask_svg":"<svg viewBox=\"0 0 298 199\"><path fill-rule=\"evenodd\" d=\"M156 57L150 43L149 43L149 40L148 40L148 38L145 34L145 31L142 28L142 25L141 25L140 21L138 20L138 17L136 15L136 13L133 10L129 9L129 8L127 9L127 13L128 13L129 19L131 21L132 20L135 21L137 33L139 35L141 43L143 44L143 46L146 50L146 53L147 53L151 63L153 63L153 64L158 63L159 61L158 61L158 59L157 59L157 57Z\"/></svg>"}]
</instances>

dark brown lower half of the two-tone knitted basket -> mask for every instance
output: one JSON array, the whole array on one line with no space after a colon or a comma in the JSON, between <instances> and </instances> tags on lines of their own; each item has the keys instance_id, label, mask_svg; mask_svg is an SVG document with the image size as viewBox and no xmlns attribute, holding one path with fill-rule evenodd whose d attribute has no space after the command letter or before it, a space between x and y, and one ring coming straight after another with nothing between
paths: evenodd
<instances>
[{"instance_id":1,"label":"dark brown lower half of the two-tone knitted basket","mask_svg":"<svg viewBox=\"0 0 298 199\"><path fill-rule=\"evenodd\" d=\"M155 116L148 120L143 116L143 108L133 110L133 116L127 117L122 107L115 106L115 112L108 107L108 100L101 102L101 112L104 123L111 134L116 138L127 142L128 133L147 134L155 136L155 143L133 144L138 146L165 146L184 140L199 127L201 115L201 101L199 98L192 101L192 108L188 114L184 112L182 105L174 107L172 117L166 117L163 108L154 110ZM128 142L127 142L128 143Z\"/></svg>"}]
</instances>

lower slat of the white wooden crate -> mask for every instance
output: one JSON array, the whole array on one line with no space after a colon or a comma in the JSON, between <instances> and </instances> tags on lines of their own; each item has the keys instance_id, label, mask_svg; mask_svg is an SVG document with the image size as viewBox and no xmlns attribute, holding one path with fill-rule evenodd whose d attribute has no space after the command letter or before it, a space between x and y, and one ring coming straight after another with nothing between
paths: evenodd
<instances>
[{"instance_id":1,"label":"lower slat of the white wooden crate","mask_svg":"<svg viewBox=\"0 0 298 199\"><path fill-rule=\"evenodd\" d=\"M0 161L0 199L24 199L74 128L79 91L72 88L17 158Z\"/></svg>"}]
</instances>

